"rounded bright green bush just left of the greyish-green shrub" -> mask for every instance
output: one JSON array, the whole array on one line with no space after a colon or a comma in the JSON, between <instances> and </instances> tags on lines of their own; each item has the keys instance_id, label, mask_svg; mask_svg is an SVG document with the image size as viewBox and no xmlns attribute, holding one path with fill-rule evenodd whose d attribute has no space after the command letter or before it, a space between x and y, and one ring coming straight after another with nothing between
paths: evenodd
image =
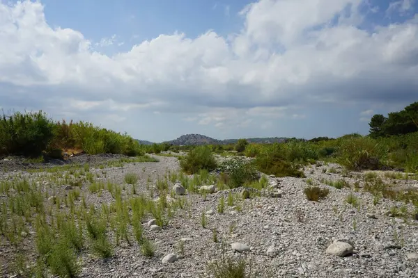
<instances>
[{"instance_id":1,"label":"rounded bright green bush just left of the greyish-green shrub","mask_svg":"<svg viewBox=\"0 0 418 278\"><path fill-rule=\"evenodd\" d=\"M180 167L187 174L196 174L199 170L215 170L217 163L209 147L199 146L180 161Z\"/></svg>"}]
</instances>

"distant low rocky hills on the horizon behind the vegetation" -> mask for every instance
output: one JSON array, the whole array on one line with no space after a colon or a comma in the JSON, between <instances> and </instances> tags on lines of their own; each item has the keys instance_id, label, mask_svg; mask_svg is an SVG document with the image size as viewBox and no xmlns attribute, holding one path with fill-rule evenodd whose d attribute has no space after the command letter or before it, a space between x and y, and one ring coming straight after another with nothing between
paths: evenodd
<instances>
[{"instance_id":1,"label":"distant low rocky hills on the horizon behind the vegetation","mask_svg":"<svg viewBox=\"0 0 418 278\"><path fill-rule=\"evenodd\" d=\"M257 142L257 143L274 143L274 142L285 142L288 138L282 137L268 137L268 138L247 138L248 142ZM186 134L180 136L176 140L167 141L171 145L226 145L226 144L235 144L238 139L226 139L226 140L217 140L204 136L201 134Z\"/></svg>"}]
</instances>

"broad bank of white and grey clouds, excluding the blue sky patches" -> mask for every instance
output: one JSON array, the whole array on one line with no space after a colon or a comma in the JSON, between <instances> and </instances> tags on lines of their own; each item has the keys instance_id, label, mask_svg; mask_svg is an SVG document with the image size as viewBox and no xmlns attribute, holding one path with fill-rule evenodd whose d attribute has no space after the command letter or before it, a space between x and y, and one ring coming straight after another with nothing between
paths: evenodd
<instances>
[{"instance_id":1,"label":"broad bank of white and grey clouds, excluding the blue sky patches","mask_svg":"<svg viewBox=\"0 0 418 278\"><path fill-rule=\"evenodd\" d=\"M412 9L411 0L391 5ZM227 37L161 34L105 55L81 32L49 26L41 2L0 2L0 96L119 122L125 116L114 112L189 113L219 128L303 120L315 104L415 100L418 17L365 30L364 9L376 11L366 0L261 0L241 10L242 29Z\"/></svg>"}]
</instances>

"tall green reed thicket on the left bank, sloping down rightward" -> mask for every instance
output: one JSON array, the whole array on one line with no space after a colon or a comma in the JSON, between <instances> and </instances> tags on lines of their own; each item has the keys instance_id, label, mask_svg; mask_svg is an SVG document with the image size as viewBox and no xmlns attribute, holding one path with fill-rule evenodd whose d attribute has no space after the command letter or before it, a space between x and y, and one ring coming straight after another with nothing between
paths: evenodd
<instances>
[{"instance_id":1,"label":"tall green reed thicket on the left bank, sloping down rightward","mask_svg":"<svg viewBox=\"0 0 418 278\"><path fill-rule=\"evenodd\" d=\"M0 119L0 155L61 158L71 150L86 154L144 154L141 145L127 134L101 129L87 122L54 122L45 113L13 113Z\"/></svg>"}]
</instances>

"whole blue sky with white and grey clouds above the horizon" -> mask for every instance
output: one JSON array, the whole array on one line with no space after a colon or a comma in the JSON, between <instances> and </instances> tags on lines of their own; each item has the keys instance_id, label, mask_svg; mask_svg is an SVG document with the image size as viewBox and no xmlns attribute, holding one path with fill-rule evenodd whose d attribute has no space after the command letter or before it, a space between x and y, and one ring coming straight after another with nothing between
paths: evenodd
<instances>
[{"instance_id":1,"label":"whole blue sky with white and grey clouds above the horizon","mask_svg":"<svg viewBox=\"0 0 418 278\"><path fill-rule=\"evenodd\" d=\"M418 0L0 0L0 108L152 142L367 134L418 101Z\"/></svg>"}]
</instances>

